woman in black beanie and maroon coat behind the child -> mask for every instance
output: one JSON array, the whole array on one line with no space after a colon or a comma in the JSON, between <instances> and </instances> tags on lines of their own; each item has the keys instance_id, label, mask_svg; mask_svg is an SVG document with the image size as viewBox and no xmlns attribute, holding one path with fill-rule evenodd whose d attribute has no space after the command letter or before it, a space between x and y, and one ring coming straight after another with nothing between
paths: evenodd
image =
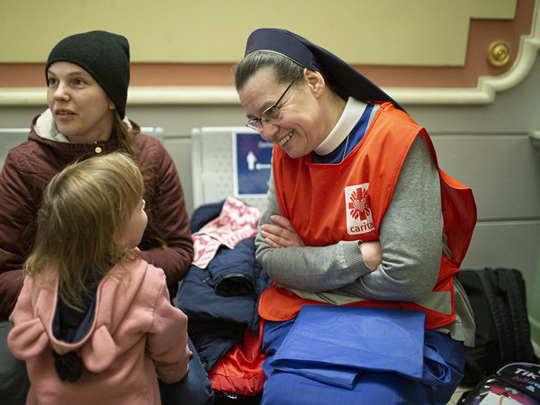
<instances>
[{"instance_id":1,"label":"woman in black beanie and maroon coat behind the child","mask_svg":"<svg viewBox=\"0 0 540 405\"><path fill-rule=\"evenodd\" d=\"M22 266L32 246L43 189L62 168L116 150L129 153L145 183L148 227L139 244L141 257L165 271L171 297L193 260L184 191L173 159L157 139L141 134L125 114L130 82L128 40L107 31L68 36L51 50L45 78L49 108L33 119L28 140L9 152L0 175L0 380L4 375L11 379L8 391L24 387L24 383L14 381L14 372L6 370L13 362L13 358L6 360L9 353L4 351L6 321L23 287ZM64 316L58 317L60 322ZM67 311L70 321L78 322L84 316ZM164 398L211 402L210 383L197 362L195 354L180 383L160 386ZM2 391L3 385L0 398L12 398ZM24 401L25 392L19 391L19 399Z\"/></svg>"}]
</instances>

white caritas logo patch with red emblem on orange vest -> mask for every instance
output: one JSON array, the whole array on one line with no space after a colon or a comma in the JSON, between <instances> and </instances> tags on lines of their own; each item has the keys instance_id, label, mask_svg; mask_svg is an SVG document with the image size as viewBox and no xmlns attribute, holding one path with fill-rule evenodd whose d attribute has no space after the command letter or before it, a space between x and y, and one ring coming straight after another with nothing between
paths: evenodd
<instances>
[{"instance_id":1,"label":"white caritas logo patch with red emblem on orange vest","mask_svg":"<svg viewBox=\"0 0 540 405\"><path fill-rule=\"evenodd\" d=\"M347 233L360 235L375 229L372 218L369 195L369 183L345 187L345 205L347 210Z\"/></svg>"}]
</instances>

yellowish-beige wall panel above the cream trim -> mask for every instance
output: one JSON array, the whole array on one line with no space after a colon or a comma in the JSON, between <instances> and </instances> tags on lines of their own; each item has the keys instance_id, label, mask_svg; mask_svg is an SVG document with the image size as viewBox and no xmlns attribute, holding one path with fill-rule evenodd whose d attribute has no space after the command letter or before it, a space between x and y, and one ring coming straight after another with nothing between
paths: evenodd
<instances>
[{"instance_id":1,"label":"yellowish-beige wall panel above the cream trim","mask_svg":"<svg viewBox=\"0 0 540 405\"><path fill-rule=\"evenodd\" d=\"M463 66L471 17L513 18L515 8L516 0L0 0L0 63L42 62L59 39L95 29L127 36L133 62L229 63L249 32L270 26L352 64Z\"/></svg>"}]
</instances>

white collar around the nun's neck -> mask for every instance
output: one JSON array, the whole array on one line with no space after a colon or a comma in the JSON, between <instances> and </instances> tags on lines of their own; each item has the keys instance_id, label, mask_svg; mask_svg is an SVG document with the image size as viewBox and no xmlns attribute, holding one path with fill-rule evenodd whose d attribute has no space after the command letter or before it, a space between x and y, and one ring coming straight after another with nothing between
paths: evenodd
<instances>
[{"instance_id":1,"label":"white collar around the nun's neck","mask_svg":"<svg viewBox=\"0 0 540 405\"><path fill-rule=\"evenodd\" d=\"M349 97L345 109L343 110L341 117L339 117L338 123L313 151L317 155L323 156L328 155L335 148L338 148L339 144L343 142L343 139L346 139L350 131L355 128L355 125L358 120L360 120L360 117L362 117L366 106L366 103Z\"/></svg>"}]
</instances>

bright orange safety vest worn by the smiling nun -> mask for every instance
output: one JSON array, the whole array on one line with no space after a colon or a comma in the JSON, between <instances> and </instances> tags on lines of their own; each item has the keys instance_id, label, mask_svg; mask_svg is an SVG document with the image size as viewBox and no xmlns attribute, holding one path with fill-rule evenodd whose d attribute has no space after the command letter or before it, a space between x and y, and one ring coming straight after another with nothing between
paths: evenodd
<instances>
[{"instance_id":1,"label":"bright orange safety vest worn by the smiling nun","mask_svg":"<svg viewBox=\"0 0 540 405\"><path fill-rule=\"evenodd\" d=\"M311 154L288 157L274 148L273 170L277 202L307 246L328 246L340 240L378 240L379 227L392 200L401 166L417 136L428 132L391 103L383 103L372 124L343 162L314 164ZM342 305L393 308L426 312L426 328L436 329L455 320L454 283L476 223L476 205L469 187L440 168L442 211L447 245L453 258L441 255L437 284L422 302L363 300ZM302 305L331 304L332 293L302 293L276 284L261 296L259 315L266 320L291 320ZM350 298L350 297L348 297ZM338 300L339 301L339 300Z\"/></svg>"}]
</instances>

